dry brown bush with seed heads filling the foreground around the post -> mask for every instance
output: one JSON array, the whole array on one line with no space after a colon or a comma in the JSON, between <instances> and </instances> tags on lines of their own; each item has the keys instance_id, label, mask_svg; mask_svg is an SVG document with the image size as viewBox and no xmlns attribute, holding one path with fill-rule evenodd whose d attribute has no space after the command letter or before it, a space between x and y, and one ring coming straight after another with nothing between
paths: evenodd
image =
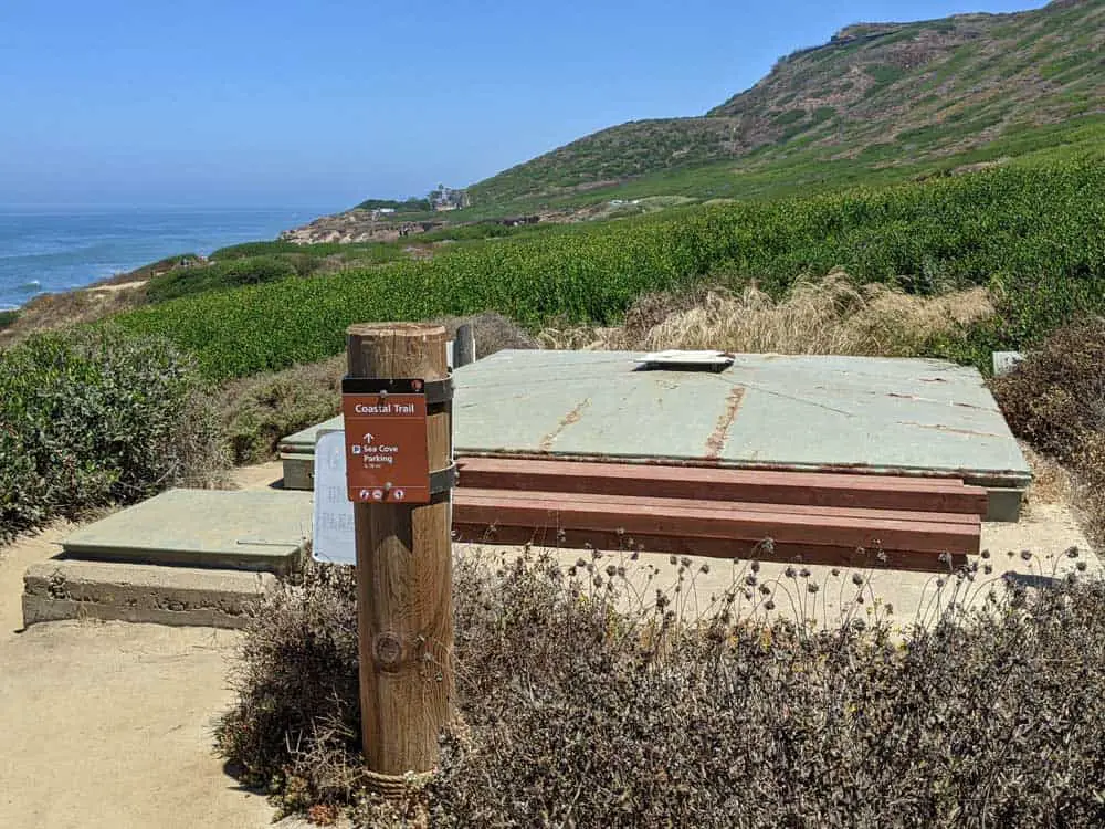
<instances>
[{"instance_id":1,"label":"dry brown bush with seed heads filling the foreground around the post","mask_svg":"<svg viewBox=\"0 0 1105 829\"><path fill-rule=\"evenodd\" d=\"M694 602L671 592L627 609L639 566L627 559L455 560L459 716L436 776L399 805L421 820L387 822L361 801L351 568L267 597L220 751L288 810L361 801L373 827L1105 821L1099 578L1030 588L987 577L983 559L941 581L940 618L898 633L885 609L857 607L862 574L822 584L744 563L708 610L681 616ZM684 596L697 569L680 564ZM860 597L841 627L762 612L818 588ZM956 607L974 592L989 598Z\"/></svg>"}]
</instances>

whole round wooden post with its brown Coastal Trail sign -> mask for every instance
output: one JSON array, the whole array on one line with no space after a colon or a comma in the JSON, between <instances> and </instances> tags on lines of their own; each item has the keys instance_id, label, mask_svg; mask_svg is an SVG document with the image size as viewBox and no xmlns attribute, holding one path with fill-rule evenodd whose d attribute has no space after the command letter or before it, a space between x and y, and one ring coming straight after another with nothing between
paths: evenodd
<instances>
[{"instance_id":1,"label":"whole round wooden post with its brown Coastal Trail sign","mask_svg":"<svg viewBox=\"0 0 1105 829\"><path fill-rule=\"evenodd\" d=\"M453 700L445 343L445 329L433 325L347 332L343 410L357 544L361 736L370 780L383 790L400 787L407 773L434 768Z\"/></svg>"}]
</instances>

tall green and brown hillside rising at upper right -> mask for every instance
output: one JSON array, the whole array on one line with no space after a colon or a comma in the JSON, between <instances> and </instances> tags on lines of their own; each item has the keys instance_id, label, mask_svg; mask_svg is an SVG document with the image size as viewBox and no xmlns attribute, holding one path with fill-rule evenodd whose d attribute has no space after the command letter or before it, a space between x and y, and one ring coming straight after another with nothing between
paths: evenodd
<instances>
[{"instance_id":1,"label":"tall green and brown hillside rising at upper right","mask_svg":"<svg viewBox=\"0 0 1105 829\"><path fill-rule=\"evenodd\" d=\"M796 171L801 183L803 168L817 168L811 183L848 183L1000 158L1002 139L1019 155L1056 127L1099 123L1103 46L1105 0L853 25L704 116L611 127L469 195L480 212L621 193L739 198L793 186Z\"/></svg>"}]
</instances>

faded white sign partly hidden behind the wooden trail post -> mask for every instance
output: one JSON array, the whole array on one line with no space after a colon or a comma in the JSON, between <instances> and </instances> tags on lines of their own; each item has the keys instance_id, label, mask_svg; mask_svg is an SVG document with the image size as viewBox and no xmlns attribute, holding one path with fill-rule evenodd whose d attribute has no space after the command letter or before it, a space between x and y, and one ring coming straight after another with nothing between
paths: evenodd
<instances>
[{"instance_id":1,"label":"faded white sign partly hidden behind the wooden trail post","mask_svg":"<svg viewBox=\"0 0 1105 829\"><path fill-rule=\"evenodd\" d=\"M315 532L311 557L326 564L357 564L345 452L344 431L326 432L315 443Z\"/></svg>"}]
</instances>

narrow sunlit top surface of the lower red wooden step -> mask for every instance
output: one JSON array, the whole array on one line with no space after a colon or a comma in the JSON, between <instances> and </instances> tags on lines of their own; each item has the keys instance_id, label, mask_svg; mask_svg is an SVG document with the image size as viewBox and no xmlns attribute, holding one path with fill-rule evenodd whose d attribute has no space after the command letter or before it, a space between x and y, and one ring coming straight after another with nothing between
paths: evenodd
<instances>
[{"instance_id":1,"label":"narrow sunlit top surface of the lower red wooden step","mask_svg":"<svg viewBox=\"0 0 1105 829\"><path fill-rule=\"evenodd\" d=\"M809 504L765 504L735 501L695 501L675 497L645 497L640 495L610 495L593 492L529 492L525 490L476 490L465 489L461 493L465 503L503 504L525 503L535 497L551 499L569 504L601 504L613 510L632 503L661 510L704 508L719 513L766 513L770 515L819 515L849 518L874 518L890 521L930 522L935 524L964 524L977 527L981 523L978 515L964 513L919 512L914 510L869 510L851 506L812 506Z\"/></svg>"}]
</instances>

